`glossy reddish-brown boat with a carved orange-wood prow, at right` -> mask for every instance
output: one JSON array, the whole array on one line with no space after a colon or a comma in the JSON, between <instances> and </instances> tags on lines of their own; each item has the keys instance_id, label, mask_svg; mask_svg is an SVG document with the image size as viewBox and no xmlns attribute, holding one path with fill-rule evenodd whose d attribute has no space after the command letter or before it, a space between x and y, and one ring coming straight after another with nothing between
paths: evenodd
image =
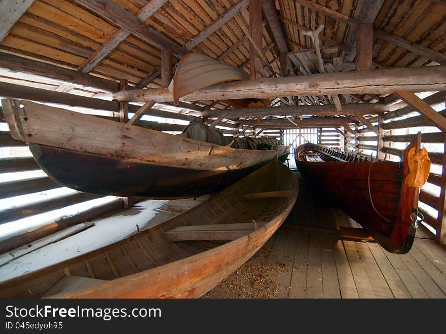
<instances>
[{"instance_id":1,"label":"glossy reddish-brown boat with a carved orange-wood prow, at right","mask_svg":"<svg viewBox=\"0 0 446 334\"><path fill-rule=\"evenodd\" d=\"M306 143L296 148L296 166L387 251L407 253L414 242L419 189L429 175L421 135L401 162L379 161ZM412 219L411 219L412 217Z\"/></svg>"}]
</instances>

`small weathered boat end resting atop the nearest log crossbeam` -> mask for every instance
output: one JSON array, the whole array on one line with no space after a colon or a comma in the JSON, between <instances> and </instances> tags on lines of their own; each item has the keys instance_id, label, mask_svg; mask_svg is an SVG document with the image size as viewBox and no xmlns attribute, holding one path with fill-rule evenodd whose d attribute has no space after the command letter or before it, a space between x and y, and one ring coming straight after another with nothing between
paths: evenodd
<instances>
[{"instance_id":1,"label":"small weathered boat end resting atop the nearest log crossbeam","mask_svg":"<svg viewBox=\"0 0 446 334\"><path fill-rule=\"evenodd\" d=\"M173 101L178 103L180 97L202 88L239 80L249 80L248 73L243 69L201 53L190 52L181 57L169 90Z\"/></svg>"}]
</instances>

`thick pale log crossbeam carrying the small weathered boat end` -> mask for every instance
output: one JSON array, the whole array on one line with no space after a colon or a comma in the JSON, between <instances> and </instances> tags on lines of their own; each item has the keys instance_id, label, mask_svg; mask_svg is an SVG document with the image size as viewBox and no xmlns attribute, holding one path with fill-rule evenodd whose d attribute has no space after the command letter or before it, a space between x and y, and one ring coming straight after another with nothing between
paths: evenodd
<instances>
[{"instance_id":1,"label":"thick pale log crossbeam carrying the small weathered boat end","mask_svg":"<svg viewBox=\"0 0 446 334\"><path fill-rule=\"evenodd\" d=\"M296 95L331 95L393 93L446 90L446 66L422 66L375 69L309 76L267 78L258 81L227 82L193 92L182 101L222 100L240 98L272 98ZM120 101L173 101L168 89L128 90L113 94Z\"/></svg>"}]
</instances>

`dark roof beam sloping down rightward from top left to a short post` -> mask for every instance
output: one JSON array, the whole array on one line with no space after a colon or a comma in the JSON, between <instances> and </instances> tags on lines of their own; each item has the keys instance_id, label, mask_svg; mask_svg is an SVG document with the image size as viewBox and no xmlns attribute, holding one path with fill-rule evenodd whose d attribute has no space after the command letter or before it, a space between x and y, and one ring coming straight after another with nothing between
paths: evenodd
<instances>
[{"instance_id":1,"label":"dark roof beam sloping down rightward from top left to a short post","mask_svg":"<svg viewBox=\"0 0 446 334\"><path fill-rule=\"evenodd\" d=\"M189 52L176 42L170 40L154 28L146 25L136 16L126 11L112 0L75 0L78 4L88 8L95 14L113 22L119 27L129 31L143 41L159 48L170 48L176 57Z\"/></svg>"}]
</instances>

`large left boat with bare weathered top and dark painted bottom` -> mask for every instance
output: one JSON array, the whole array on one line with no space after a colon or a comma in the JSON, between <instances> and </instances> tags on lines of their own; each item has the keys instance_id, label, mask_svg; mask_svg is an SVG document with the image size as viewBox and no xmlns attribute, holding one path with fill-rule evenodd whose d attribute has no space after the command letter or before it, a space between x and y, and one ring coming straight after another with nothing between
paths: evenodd
<instances>
[{"instance_id":1,"label":"large left boat with bare weathered top and dark painted bottom","mask_svg":"<svg viewBox=\"0 0 446 334\"><path fill-rule=\"evenodd\" d=\"M11 135L28 143L39 166L57 183L88 193L215 193L289 151L233 149L29 101L4 99L2 106Z\"/></svg>"}]
</instances>

